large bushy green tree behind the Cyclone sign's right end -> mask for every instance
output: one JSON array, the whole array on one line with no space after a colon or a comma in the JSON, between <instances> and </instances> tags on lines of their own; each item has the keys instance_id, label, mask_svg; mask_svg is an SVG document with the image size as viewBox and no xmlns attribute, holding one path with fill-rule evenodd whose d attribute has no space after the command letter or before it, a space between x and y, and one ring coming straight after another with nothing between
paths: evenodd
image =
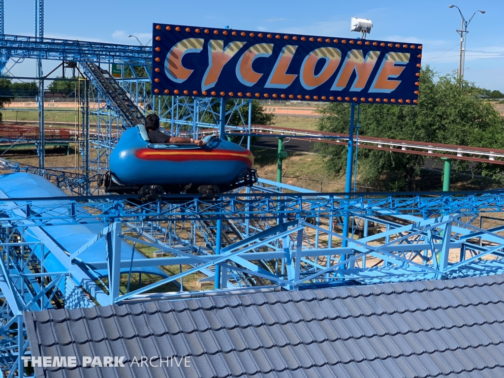
<instances>
[{"instance_id":1,"label":"large bushy green tree behind the Cyclone sign's right end","mask_svg":"<svg viewBox=\"0 0 504 378\"><path fill-rule=\"evenodd\" d=\"M502 134L504 122L491 104L478 98L477 94L481 90L455 75L435 79L436 74L428 66L422 69L416 106L360 105L360 135L489 147L488 133L500 130ZM348 133L349 104L331 103L319 109L319 112L322 114L318 121L319 130ZM344 172L346 147L320 143L318 149L330 172ZM389 190L414 191L415 178L424 163L424 156L414 154L369 149L359 149L358 154L361 178L368 184L375 184L385 175ZM456 160L453 168L466 170L469 165L466 161Z\"/></svg>"}]
</instances>

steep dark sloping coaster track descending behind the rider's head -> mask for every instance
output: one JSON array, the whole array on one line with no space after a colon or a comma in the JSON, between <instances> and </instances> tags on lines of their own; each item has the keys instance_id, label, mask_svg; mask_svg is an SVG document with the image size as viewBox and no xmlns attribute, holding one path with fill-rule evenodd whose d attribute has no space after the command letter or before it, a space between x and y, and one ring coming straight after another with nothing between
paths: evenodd
<instances>
[{"instance_id":1,"label":"steep dark sloping coaster track descending behind the rider's head","mask_svg":"<svg viewBox=\"0 0 504 378\"><path fill-rule=\"evenodd\" d=\"M99 68L93 62L81 62L81 66L89 80L105 98L107 106L117 113L123 128L128 129L138 123L144 123L144 115L140 108L108 71Z\"/></svg>"}]
</instances>

